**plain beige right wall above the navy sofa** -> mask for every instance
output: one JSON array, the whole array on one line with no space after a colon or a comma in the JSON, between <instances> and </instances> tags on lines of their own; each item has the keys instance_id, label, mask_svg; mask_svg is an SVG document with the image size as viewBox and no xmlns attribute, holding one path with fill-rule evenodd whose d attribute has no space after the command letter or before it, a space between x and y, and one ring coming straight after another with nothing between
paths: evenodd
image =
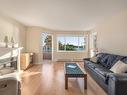
<instances>
[{"instance_id":1,"label":"plain beige right wall above the navy sofa","mask_svg":"<svg viewBox=\"0 0 127 95\"><path fill-rule=\"evenodd\" d=\"M100 51L127 55L127 10L106 18L93 31Z\"/></svg>"}]
</instances>

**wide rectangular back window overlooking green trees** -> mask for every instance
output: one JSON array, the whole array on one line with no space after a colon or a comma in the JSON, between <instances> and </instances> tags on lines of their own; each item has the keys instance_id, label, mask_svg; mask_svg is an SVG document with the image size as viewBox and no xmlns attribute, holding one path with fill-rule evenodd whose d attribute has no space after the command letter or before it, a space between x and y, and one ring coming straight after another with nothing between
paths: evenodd
<instances>
[{"instance_id":1,"label":"wide rectangular back window overlooking green trees","mask_svg":"<svg viewBox=\"0 0 127 95\"><path fill-rule=\"evenodd\" d=\"M85 51L86 38L85 36L58 36L58 51Z\"/></svg>"}]
</instances>

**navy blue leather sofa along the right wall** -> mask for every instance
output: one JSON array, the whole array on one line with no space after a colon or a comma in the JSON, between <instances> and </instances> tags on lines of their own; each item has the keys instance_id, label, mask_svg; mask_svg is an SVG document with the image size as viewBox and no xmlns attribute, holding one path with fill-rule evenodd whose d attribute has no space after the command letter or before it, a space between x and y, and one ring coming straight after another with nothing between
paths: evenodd
<instances>
[{"instance_id":1,"label":"navy blue leather sofa along the right wall","mask_svg":"<svg viewBox=\"0 0 127 95\"><path fill-rule=\"evenodd\" d=\"M86 71L108 95L127 95L127 73L116 74L110 71L118 60L127 63L127 56L99 53L96 57L96 63L90 61L90 58L84 59Z\"/></svg>"}]
</instances>

